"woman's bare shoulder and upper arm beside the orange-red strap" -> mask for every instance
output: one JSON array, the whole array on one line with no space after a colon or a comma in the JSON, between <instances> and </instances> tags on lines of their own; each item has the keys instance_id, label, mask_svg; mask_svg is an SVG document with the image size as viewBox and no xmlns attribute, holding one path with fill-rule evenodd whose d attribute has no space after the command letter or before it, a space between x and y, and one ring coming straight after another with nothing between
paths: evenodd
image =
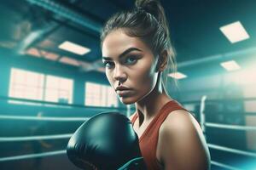
<instances>
[{"instance_id":1,"label":"woman's bare shoulder and upper arm beside the orange-red strap","mask_svg":"<svg viewBox=\"0 0 256 170\"><path fill-rule=\"evenodd\" d=\"M201 127L187 111L173 111L160 127L157 156L166 170L208 170L210 154Z\"/></svg>"}]
</instances>

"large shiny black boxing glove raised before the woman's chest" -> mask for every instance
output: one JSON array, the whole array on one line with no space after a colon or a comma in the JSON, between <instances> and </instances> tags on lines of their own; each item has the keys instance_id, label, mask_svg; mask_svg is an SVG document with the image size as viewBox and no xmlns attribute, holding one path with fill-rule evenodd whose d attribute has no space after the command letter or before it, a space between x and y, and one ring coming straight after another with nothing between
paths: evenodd
<instances>
[{"instance_id":1,"label":"large shiny black boxing glove raised before the woman's chest","mask_svg":"<svg viewBox=\"0 0 256 170\"><path fill-rule=\"evenodd\" d=\"M105 112L84 122L69 140L67 156L77 167L88 170L115 170L142 157L130 120L117 112ZM123 169L136 169L126 167Z\"/></svg>"}]
</instances>

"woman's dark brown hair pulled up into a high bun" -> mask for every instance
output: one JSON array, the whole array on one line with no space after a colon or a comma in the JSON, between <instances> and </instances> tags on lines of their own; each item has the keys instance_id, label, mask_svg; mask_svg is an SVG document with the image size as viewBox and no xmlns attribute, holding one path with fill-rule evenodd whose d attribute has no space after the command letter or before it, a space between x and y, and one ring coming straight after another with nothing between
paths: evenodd
<instances>
[{"instance_id":1,"label":"woman's dark brown hair pulled up into a high bun","mask_svg":"<svg viewBox=\"0 0 256 170\"><path fill-rule=\"evenodd\" d=\"M103 27L101 43L109 32L119 28L124 29L130 37L139 37L151 48L155 56L161 57L161 53L166 51L168 61L161 77L167 86L167 74L175 72L177 66L166 14L160 2L158 0L137 0L136 8L114 14Z\"/></svg>"}]
</instances>

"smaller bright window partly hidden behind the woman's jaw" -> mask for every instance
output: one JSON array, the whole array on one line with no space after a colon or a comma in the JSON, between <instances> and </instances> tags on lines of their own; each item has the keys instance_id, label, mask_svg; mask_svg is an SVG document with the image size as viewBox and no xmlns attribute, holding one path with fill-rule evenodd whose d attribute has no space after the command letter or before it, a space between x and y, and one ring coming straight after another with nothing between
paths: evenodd
<instances>
[{"instance_id":1,"label":"smaller bright window partly hidden behind the woman's jaw","mask_svg":"<svg viewBox=\"0 0 256 170\"><path fill-rule=\"evenodd\" d=\"M85 83L84 105L117 107L118 99L113 88L93 82Z\"/></svg>"}]
</instances>

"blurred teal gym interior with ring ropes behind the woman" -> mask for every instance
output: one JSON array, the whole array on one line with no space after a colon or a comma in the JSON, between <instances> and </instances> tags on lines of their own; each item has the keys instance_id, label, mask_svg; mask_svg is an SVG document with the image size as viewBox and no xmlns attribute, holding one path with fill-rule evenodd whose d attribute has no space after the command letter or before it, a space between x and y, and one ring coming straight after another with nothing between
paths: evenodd
<instances>
[{"instance_id":1,"label":"blurred teal gym interior with ring ropes behind the woman","mask_svg":"<svg viewBox=\"0 0 256 170\"><path fill-rule=\"evenodd\" d=\"M201 123L212 170L256 169L256 1L161 1L178 88ZM65 149L86 118L129 116L102 67L100 31L133 0L0 3L0 169L78 169ZM79 51L75 51L79 49Z\"/></svg>"}]
</instances>

